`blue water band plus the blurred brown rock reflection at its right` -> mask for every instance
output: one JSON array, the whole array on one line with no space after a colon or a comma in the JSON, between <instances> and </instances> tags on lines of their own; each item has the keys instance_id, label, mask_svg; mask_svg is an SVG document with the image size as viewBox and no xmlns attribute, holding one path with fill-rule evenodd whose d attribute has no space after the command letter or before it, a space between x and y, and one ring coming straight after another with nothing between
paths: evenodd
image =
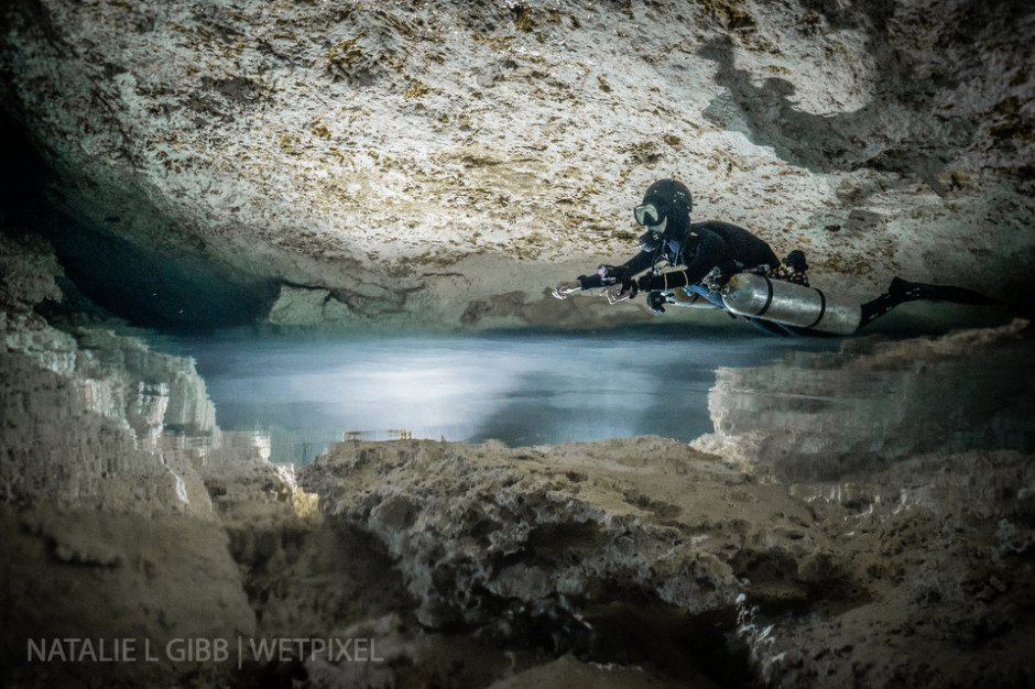
<instances>
[{"instance_id":1,"label":"blue water band plus the blurred brown rock reflection at its right","mask_svg":"<svg viewBox=\"0 0 1035 689\"><path fill-rule=\"evenodd\" d=\"M227 330L165 336L160 349L194 359L219 429L261 437L275 462L310 462L342 439L395 438L520 447L793 431L814 440L781 451L817 457L1035 447L1035 341L965 341L941 354L916 337L780 338L682 324L450 336ZM920 344L896 349L909 341Z\"/></svg>"}]
</instances>

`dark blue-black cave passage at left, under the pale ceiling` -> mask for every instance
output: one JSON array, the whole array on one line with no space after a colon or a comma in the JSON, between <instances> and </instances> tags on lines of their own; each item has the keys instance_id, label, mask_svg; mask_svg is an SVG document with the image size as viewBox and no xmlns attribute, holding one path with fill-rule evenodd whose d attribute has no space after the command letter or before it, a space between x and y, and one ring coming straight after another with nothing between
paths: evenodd
<instances>
[{"instance_id":1,"label":"dark blue-black cave passage at left, under the pale ceiling","mask_svg":"<svg viewBox=\"0 0 1035 689\"><path fill-rule=\"evenodd\" d=\"M8 132L0 158L2 231L36 232L50 242L65 273L66 304L46 304L47 315L99 306L129 325L159 330L208 330L253 325L276 293L270 278L220 266L204 252L170 243L149 245L112 231L122 218L101 221L70 216L59 207L63 181L47 165L24 124L0 111ZM156 209L142 208L141 215ZM127 228L121 228L126 230ZM175 236L172 226L167 237Z\"/></svg>"}]
</instances>

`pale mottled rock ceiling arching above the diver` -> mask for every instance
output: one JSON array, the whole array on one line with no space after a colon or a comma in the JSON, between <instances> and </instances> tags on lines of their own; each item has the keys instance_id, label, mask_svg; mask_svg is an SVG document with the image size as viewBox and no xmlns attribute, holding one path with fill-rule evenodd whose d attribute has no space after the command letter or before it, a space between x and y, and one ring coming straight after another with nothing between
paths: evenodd
<instances>
[{"instance_id":1,"label":"pale mottled rock ceiling arching above the diver","mask_svg":"<svg viewBox=\"0 0 1035 689\"><path fill-rule=\"evenodd\" d=\"M669 174L827 288L1031 287L1025 2L0 17L0 94L64 214L43 222L84 289L149 322L643 318L544 287L633 251L629 209Z\"/></svg>"}]
</instances>

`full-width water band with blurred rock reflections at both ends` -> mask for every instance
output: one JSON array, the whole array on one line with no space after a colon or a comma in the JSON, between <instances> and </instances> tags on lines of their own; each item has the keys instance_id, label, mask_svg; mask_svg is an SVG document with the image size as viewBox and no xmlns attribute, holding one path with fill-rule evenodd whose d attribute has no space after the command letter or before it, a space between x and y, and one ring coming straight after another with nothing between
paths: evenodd
<instances>
[{"instance_id":1,"label":"full-width water band with blurred rock reflections at both ends","mask_svg":"<svg viewBox=\"0 0 1035 689\"><path fill-rule=\"evenodd\" d=\"M1023 325L847 340L664 328L143 342L90 329L52 349L0 357L0 446L19 458L0 467L9 499L120 504L137 493L109 479L128 474L148 477L145 501L179 495L187 508L192 494L207 500L198 481L177 483L192 468L306 463L350 437L658 435L848 502L887 500L864 477L911 459L1035 450L1035 339Z\"/></svg>"}]
</instances>

